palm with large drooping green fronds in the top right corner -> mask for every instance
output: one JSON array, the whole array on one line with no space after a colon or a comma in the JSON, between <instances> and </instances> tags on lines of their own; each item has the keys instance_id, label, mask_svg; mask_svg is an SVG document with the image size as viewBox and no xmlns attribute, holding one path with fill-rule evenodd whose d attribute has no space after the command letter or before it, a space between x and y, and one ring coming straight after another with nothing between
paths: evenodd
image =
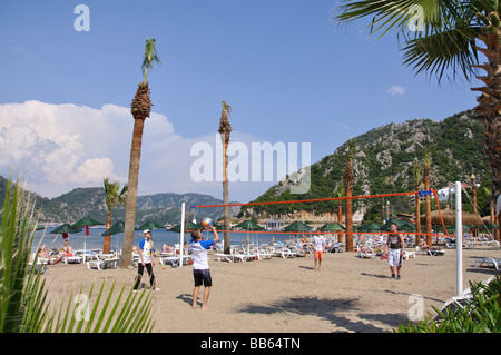
<instances>
[{"instance_id":1,"label":"palm with large drooping green fronds in the top right corner","mask_svg":"<svg viewBox=\"0 0 501 355\"><path fill-rule=\"evenodd\" d=\"M484 86L472 119L484 124L484 149L492 178L492 194L501 194L501 2L494 0L361 0L340 8L336 19L350 22L372 17L371 32L385 34L394 28L402 34L403 58L418 73L436 75L439 82L446 70L452 79L474 76ZM415 31L415 20L419 27ZM482 45L482 47L479 47ZM487 61L480 62L479 52ZM478 69L485 71L479 76Z\"/></svg>"}]
</instances>

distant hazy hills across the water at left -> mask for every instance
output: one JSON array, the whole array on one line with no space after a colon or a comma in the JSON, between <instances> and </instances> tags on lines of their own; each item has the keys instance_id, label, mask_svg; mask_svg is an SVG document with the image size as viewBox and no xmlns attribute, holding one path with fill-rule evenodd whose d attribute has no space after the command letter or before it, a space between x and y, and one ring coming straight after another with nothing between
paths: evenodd
<instances>
[{"instance_id":1,"label":"distant hazy hills across the water at left","mask_svg":"<svg viewBox=\"0 0 501 355\"><path fill-rule=\"evenodd\" d=\"M3 200L7 179L0 176L0 198ZM35 213L40 224L43 223L75 223L84 217L106 221L107 207L105 204L105 189L102 187L76 188L59 197L47 198L31 193L35 198ZM223 200L209 195L202 194L155 194L138 196L136 224L140 225L148 220L159 224L178 224L180 221L180 206L220 205ZM234 215L239 208L230 207L229 213ZM191 209L189 219L197 220L210 217L217 220L223 216L222 207L204 209ZM125 207L112 210L112 220L125 219Z\"/></svg>"}]
</instances>

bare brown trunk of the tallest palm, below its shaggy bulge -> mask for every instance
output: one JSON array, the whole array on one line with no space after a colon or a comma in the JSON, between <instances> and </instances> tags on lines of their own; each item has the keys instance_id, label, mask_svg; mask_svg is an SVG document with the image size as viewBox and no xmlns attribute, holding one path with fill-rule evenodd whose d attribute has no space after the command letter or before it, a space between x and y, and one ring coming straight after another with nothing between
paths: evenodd
<instances>
[{"instance_id":1,"label":"bare brown trunk of the tallest palm, below its shaggy bulge","mask_svg":"<svg viewBox=\"0 0 501 355\"><path fill-rule=\"evenodd\" d=\"M134 120L132 147L130 149L129 180L126 201L126 217L124 225L124 241L121 245L120 268L128 268L131 265L134 229L136 226L137 186L139 181L139 161L141 157L143 129L145 120L139 118Z\"/></svg>"}]
</instances>

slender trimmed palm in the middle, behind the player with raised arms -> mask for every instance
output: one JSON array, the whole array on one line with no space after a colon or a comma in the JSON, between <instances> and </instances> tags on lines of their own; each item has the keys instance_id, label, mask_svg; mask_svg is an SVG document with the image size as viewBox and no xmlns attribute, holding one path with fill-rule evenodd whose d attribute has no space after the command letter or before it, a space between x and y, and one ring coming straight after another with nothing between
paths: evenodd
<instances>
[{"instance_id":1,"label":"slender trimmed palm in the middle, behind the player with raised arms","mask_svg":"<svg viewBox=\"0 0 501 355\"><path fill-rule=\"evenodd\" d=\"M220 140L223 142L223 204L224 206L224 227L225 227L225 253L229 254L229 207L228 205L228 142L229 134L232 132L232 125L229 125L228 116L232 112L232 107L224 100L222 102L223 109L220 111L219 129Z\"/></svg>"}]
</instances>

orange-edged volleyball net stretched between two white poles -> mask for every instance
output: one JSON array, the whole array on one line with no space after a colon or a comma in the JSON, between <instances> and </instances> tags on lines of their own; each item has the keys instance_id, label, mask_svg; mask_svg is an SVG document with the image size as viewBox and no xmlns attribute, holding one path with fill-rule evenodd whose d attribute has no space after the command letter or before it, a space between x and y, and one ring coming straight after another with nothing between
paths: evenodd
<instances>
[{"instance_id":1,"label":"orange-edged volleyball net stretched between two white poles","mask_svg":"<svg viewBox=\"0 0 501 355\"><path fill-rule=\"evenodd\" d=\"M392 199L392 198L397 198L397 197L409 197L409 200L411 200L412 197L419 196L420 199L422 196L430 196L430 198L432 196L434 196L434 200L436 203L436 211L439 215L439 224L434 224L434 225L439 225L441 228L443 228L443 234L438 234L438 233L424 233L422 231L423 229L425 229L425 224L421 224L421 230L397 230L399 234L407 234L407 235L420 235L420 236L430 236L430 237L448 237L448 228L443 221L442 218L442 213L440 209L440 204L439 204L439 196L436 194L436 190L420 190L420 191L407 191L407 193L394 193L394 194L380 194L380 195L366 195L366 196L351 196L351 197L330 197L330 198L315 198L315 199L297 199L297 200L281 200L281 201L257 201L257 203L247 203L247 204L218 204L218 205L191 205L187 207L186 210L186 218L185 220L183 220L181 223L185 223L185 228L184 230L186 233L193 231L194 229L198 229L200 227L200 225L196 224L196 223L190 223L189 218L194 217L194 215L196 216L196 218L205 218L207 217L208 213L207 208L224 208L224 207L240 207L240 210L243 207L262 207L262 209L265 210L265 206L268 205L301 205L301 206L305 206L308 204L318 204L318 203L341 203L341 201L346 201L346 200L352 200L352 201L367 201L371 199L381 199L381 198L386 198L387 200ZM325 208L325 207L324 207ZM409 207L411 208L411 207ZM390 217L390 216L387 216ZM239 219L245 219L245 218L239 218ZM297 219L296 219L297 220ZM294 221L294 218L291 218L291 223ZM330 221L325 221L325 220L316 220L316 221L311 221L306 219L306 223L312 223L312 224L328 224ZM234 227L235 228L235 227ZM316 234L316 228L312 228L311 230L268 230L267 228L263 228L263 229L246 229L246 228L237 228L237 229L233 229L229 228L227 230L225 230L224 226L219 226L216 227L218 233L249 233L252 231L253 234ZM356 228L353 228L353 230L346 230L346 229L340 229L340 230L322 230L321 234L331 234L331 235L360 235L360 234L371 234L371 235L377 235L377 234L391 234L391 231L389 230L381 230L377 228L374 228L374 230L356 230Z\"/></svg>"}]
</instances>

